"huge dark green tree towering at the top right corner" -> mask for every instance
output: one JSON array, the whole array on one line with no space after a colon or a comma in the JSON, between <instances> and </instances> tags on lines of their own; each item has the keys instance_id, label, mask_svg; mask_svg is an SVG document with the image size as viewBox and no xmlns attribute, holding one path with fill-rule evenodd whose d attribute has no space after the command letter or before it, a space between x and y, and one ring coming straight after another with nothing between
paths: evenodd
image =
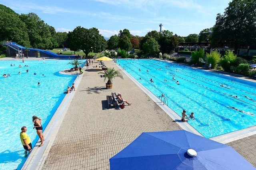
<instances>
[{"instance_id":1,"label":"huge dark green tree towering at the top right corner","mask_svg":"<svg viewBox=\"0 0 256 170\"><path fill-rule=\"evenodd\" d=\"M256 45L256 1L232 0L223 15L217 14L211 46Z\"/></svg>"}]
</instances>

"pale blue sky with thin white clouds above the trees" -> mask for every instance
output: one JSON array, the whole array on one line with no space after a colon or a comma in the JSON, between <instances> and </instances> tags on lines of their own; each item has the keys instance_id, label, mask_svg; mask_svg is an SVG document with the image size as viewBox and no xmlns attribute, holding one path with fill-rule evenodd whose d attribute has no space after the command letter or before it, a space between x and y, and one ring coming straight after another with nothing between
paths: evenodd
<instances>
[{"instance_id":1,"label":"pale blue sky with thin white clouds above the trees","mask_svg":"<svg viewBox=\"0 0 256 170\"><path fill-rule=\"evenodd\" d=\"M104 37L128 29L132 35L172 31L180 36L199 34L215 24L230 0L0 0L18 14L37 14L56 31L96 27Z\"/></svg>"}]
</instances>

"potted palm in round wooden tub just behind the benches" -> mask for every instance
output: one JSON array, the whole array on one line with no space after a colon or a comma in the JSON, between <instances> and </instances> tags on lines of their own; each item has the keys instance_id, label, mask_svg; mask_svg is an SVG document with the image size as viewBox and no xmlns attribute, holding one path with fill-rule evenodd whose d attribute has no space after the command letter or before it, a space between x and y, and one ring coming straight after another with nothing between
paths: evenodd
<instances>
[{"instance_id":1,"label":"potted palm in round wooden tub just behind the benches","mask_svg":"<svg viewBox=\"0 0 256 170\"><path fill-rule=\"evenodd\" d=\"M108 79L108 82L106 83L106 88L111 89L112 88L112 79L115 77L120 77L122 79L123 76L118 70L114 70L114 68L107 68L105 72L99 72L98 74L103 74L104 75L104 81Z\"/></svg>"}]
</instances>

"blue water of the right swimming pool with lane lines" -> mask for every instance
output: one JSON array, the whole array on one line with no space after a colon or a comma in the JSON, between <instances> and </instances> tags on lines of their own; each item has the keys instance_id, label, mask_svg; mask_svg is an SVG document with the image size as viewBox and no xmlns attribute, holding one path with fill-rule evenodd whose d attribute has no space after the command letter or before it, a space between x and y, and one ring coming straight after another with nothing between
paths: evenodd
<instances>
[{"instance_id":1,"label":"blue water of the right swimming pool with lane lines","mask_svg":"<svg viewBox=\"0 0 256 170\"><path fill-rule=\"evenodd\" d=\"M194 112L196 119L188 123L206 138L256 124L256 83L164 61L118 63L155 96L165 94L168 106L178 115L183 109L188 115Z\"/></svg>"}]
</instances>

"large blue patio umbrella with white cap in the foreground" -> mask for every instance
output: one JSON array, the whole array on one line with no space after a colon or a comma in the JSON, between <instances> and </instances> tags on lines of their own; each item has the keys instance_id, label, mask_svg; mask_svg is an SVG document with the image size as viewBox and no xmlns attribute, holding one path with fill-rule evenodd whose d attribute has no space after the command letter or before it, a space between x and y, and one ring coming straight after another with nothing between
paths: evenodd
<instances>
[{"instance_id":1,"label":"large blue patio umbrella with white cap in the foreground","mask_svg":"<svg viewBox=\"0 0 256 170\"><path fill-rule=\"evenodd\" d=\"M110 170L255 170L224 145L188 131L142 133L110 158Z\"/></svg>"}]
</instances>

